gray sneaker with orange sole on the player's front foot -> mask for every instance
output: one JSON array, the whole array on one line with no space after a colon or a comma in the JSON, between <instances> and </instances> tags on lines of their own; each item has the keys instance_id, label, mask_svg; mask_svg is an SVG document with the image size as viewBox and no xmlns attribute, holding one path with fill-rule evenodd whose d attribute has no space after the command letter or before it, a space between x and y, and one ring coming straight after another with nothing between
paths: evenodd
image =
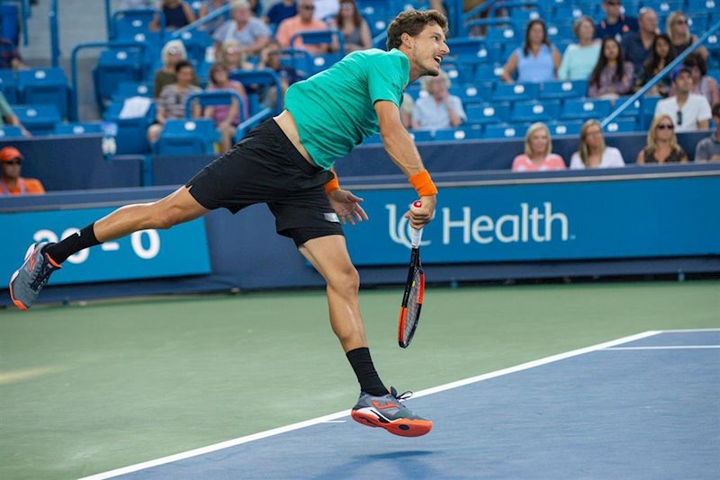
<instances>
[{"instance_id":1,"label":"gray sneaker with orange sole on the player's front foot","mask_svg":"<svg viewBox=\"0 0 720 480\"><path fill-rule=\"evenodd\" d=\"M372 396L360 392L360 398L350 415L353 420L370 427L382 427L401 437L419 437L433 429L433 422L410 412L401 400L410 398L412 392L398 395L395 388L384 396Z\"/></svg>"}]
</instances>

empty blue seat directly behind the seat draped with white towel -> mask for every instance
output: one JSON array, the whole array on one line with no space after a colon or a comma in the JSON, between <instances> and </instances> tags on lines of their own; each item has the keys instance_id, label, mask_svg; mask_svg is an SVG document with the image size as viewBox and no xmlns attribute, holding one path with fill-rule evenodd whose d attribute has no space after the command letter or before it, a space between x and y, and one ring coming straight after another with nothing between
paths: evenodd
<instances>
[{"instance_id":1,"label":"empty blue seat directly behind the seat draped with white towel","mask_svg":"<svg viewBox=\"0 0 720 480\"><path fill-rule=\"evenodd\" d=\"M101 111L122 82L142 81L144 67L136 49L108 49L100 53L93 70L95 99Z\"/></svg>"}]
</instances>

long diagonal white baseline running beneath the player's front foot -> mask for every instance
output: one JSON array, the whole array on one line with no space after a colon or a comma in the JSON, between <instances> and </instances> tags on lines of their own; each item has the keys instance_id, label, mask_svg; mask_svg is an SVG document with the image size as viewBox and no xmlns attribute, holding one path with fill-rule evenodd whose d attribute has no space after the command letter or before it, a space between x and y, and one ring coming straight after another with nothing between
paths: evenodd
<instances>
[{"instance_id":1,"label":"long diagonal white baseline running beneath the player's front foot","mask_svg":"<svg viewBox=\"0 0 720 480\"><path fill-rule=\"evenodd\" d=\"M451 382L446 385L441 385L439 387L432 387L432 388L428 388L426 390L420 390L419 392L417 392L413 395L413 398L417 398L420 396L427 396L430 394L437 394L438 392L450 390L451 388L464 387L465 385L482 382L483 380L501 377L503 375L509 375L511 373L516 373L516 372L522 371L522 370L534 369L534 368L540 367L542 365L547 365L548 363L553 363L555 361L570 359L572 357L584 355L584 354L590 353L592 351L608 349L609 347L614 347L614 346L620 345L622 343L635 342L635 340L641 340L641 339L644 339L647 337L651 337L653 335L657 335L658 333L663 333L663 332L662 331L649 331L649 332L644 332L644 333L636 333L635 335L618 338L617 340L612 340L610 342L598 343L597 345L592 345L590 347L585 347L585 348L581 348L578 350L566 351L564 353L558 353L557 355L545 357L544 359L528 361L527 363L522 363L520 365L516 365L515 367L510 367L508 369L500 369L500 370L496 370L496 371L493 371L490 373L486 373L484 375L478 375L477 377L465 378L464 380L458 380L456 382ZM207 447L202 447L200 449L193 449L193 450L188 450L188 451L185 451L182 453L176 453L175 455L170 455L168 457L163 457L163 458L157 458L155 460L149 460L147 462L130 465L129 467L116 468L114 470L110 470L108 472L103 472L103 473L96 474L93 476L85 476L84 478L81 478L80 480L103 480L105 478L112 478L113 476L121 476L121 475L125 475L125 474L130 474L132 472L137 472L139 470L144 470L146 468L157 467L159 465L165 465L167 463L184 460L185 458L197 457L199 455L204 455L207 453L211 453L213 451L217 451L217 450L221 450L221 449L228 449L229 447L235 447L237 445L241 445L243 443L247 443L250 441L266 439L267 437L273 437L273 436L279 435L281 433L287 433L288 431L294 431L294 430L302 429L305 427L310 427L312 425L317 425L319 423L334 422L340 418L348 416L349 414L350 414L350 410L344 410L344 411L338 412L338 413L331 413L329 415L321 416L321 417L314 418L311 420L306 420L304 422L298 422L298 423L293 423L292 425L285 425L284 427L278 427L273 430L260 431L258 433L253 433L252 435L240 437L238 439L221 441L220 443L215 443L214 445L209 445Z\"/></svg>"}]
</instances>

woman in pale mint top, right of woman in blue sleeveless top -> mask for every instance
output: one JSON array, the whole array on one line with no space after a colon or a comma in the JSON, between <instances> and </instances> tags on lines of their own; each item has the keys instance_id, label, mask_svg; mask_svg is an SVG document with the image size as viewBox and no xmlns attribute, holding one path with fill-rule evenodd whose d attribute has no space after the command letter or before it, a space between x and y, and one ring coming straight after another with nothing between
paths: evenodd
<instances>
[{"instance_id":1,"label":"woman in pale mint top, right of woman in blue sleeveless top","mask_svg":"<svg viewBox=\"0 0 720 480\"><path fill-rule=\"evenodd\" d=\"M595 39L595 23L583 15L572 24L578 43L568 45L557 72L560 80L587 80L598 63L601 41Z\"/></svg>"}]
</instances>

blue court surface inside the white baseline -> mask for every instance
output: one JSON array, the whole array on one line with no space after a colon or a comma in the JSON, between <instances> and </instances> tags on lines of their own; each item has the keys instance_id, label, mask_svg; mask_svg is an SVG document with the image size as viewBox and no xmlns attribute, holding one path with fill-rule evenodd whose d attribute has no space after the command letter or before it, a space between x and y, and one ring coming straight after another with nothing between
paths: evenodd
<instances>
[{"instance_id":1,"label":"blue court surface inside the white baseline","mask_svg":"<svg viewBox=\"0 0 720 480\"><path fill-rule=\"evenodd\" d=\"M647 332L419 392L416 439L347 412L94 478L718 478L720 329Z\"/></svg>"}]
</instances>

